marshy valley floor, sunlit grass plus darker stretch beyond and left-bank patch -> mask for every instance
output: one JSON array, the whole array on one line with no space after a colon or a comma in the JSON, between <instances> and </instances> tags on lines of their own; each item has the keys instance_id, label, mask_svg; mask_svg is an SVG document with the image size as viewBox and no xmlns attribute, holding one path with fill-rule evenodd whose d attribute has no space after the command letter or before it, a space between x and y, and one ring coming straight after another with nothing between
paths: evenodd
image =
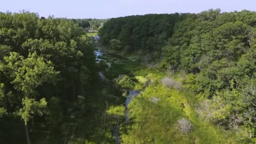
<instances>
[{"instance_id":1,"label":"marshy valley floor, sunlit grass plus darker stretch beyond and left-bank patch","mask_svg":"<svg viewBox=\"0 0 256 144\"><path fill-rule=\"evenodd\" d=\"M220 126L206 123L197 115L200 96L189 91L183 84L186 75L171 74L157 68L148 68L136 62L113 63L106 76L128 75L136 84L133 89L141 91L128 105L129 121L119 119L119 135L122 144L219 144L242 143L235 133L224 131ZM163 85L164 77L179 83L173 88ZM109 113L125 117L123 105L111 107ZM185 118L192 124L188 134L177 130L178 120Z\"/></svg>"}]
</instances>

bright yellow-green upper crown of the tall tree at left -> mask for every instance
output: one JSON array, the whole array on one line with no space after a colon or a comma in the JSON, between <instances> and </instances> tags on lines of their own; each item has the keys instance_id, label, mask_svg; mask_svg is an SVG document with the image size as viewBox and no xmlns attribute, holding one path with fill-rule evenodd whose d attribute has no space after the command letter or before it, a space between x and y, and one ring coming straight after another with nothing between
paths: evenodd
<instances>
[{"instance_id":1,"label":"bright yellow-green upper crown of the tall tree at left","mask_svg":"<svg viewBox=\"0 0 256 144\"><path fill-rule=\"evenodd\" d=\"M29 53L27 59L15 52L10 55L4 58L7 63L5 69L12 75L14 88L27 95L32 94L43 83L53 83L59 74L51 61L43 61L43 57L38 57L36 53Z\"/></svg>"}]
</instances>

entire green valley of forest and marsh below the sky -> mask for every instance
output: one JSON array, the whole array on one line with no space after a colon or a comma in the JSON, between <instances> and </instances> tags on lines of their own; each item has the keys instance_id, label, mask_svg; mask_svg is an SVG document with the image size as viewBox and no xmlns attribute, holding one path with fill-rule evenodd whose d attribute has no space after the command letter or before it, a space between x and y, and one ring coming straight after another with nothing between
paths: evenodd
<instances>
[{"instance_id":1,"label":"entire green valley of forest and marsh below the sky","mask_svg":"<svg viewBox=\"0 0 256 144\"><path fill-rule=\"evenodd\" d=\"M253 143L255 34L246 10L0 13L0 143Z\"/></svg>"}]
</instances>

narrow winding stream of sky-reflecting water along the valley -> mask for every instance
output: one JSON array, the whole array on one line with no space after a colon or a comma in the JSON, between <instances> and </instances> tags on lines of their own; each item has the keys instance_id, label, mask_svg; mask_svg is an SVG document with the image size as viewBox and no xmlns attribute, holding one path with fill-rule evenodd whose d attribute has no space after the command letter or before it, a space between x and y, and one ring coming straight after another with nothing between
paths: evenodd
<instances>
[{"instance_id":1,"label":"narrow winding stream of sky-reflecting water along the valley","mask_svg":"<svg viewBox=\"0 0 256 144\"><path fill-rule=\"evenodd\" d=\"M96 43L98 43L99 38L100 38L99 36L94 37ZM126 58L121 57L119 55L102 52L101 48L99 48L99 47L95 48L94 53L96 54L96 62L97 63L99 63L100 61L105 61L108 64L108 68L106 69L106 71L111 67L112 62L114 62L114 63L115 62L120 62L121 59L126 59ZM109 56L107 56L107 55L109 55ZM104 59L104 57L107 57L108 59ZM109 60L109 58L113 59L113 61ZM101 77L101 80L106 80L106 77L104 76L103 72L99 72L99 76ZM132 99L135 96L139 95L139 93L140 93L139 91L134 91L134 90L131 90L131 91L128 92L127 98L126 98L125 103L124 103L124 107L125 107L125 122L124 123L127 123L128 120L129 120L128 105L131 103ZM116 144L120 144L119 127L120 127L120 123L117 123L113 128L113 131L114 131L113 135L115 136Z\"/></svg>"}]
</instances>

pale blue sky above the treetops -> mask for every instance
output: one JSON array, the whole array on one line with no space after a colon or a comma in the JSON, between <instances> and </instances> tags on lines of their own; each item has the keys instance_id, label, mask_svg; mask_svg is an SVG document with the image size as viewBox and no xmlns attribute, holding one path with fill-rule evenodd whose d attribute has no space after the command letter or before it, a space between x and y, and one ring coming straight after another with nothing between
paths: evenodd
<instances>
[{"instance_id":1,"label":"pale blue sky above the treetops","mask_svg":"<svg viewBox=\"0 0 256 144\"><path fill-rule=\"evenodd\" d=\"M256 11L256 0L0 0L0 11L27 10L40 16L67 18L112 18L147 13L199 13Z\"/></svg>"}]
</instances>

